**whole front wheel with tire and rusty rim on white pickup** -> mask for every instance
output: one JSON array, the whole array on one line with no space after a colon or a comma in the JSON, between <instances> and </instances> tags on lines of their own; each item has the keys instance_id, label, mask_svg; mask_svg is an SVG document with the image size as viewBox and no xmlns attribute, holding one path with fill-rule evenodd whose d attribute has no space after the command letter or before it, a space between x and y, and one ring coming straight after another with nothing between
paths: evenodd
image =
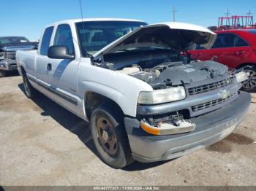
<instances>
[{"instance_id":1,"label":"whole front wheel with tire and rusty rim on white pickup","mask_svg":"<svg viewBox=\"0 0 256 191\"><path fill-rule=\"evenodd\" d=\"M113 106L99 106L91 114L91 136L100 158L113 168L124 168L132 163L124 116L110 111ZM116 144L116 147L115 147Z\"/></svg>"}]
</instances>

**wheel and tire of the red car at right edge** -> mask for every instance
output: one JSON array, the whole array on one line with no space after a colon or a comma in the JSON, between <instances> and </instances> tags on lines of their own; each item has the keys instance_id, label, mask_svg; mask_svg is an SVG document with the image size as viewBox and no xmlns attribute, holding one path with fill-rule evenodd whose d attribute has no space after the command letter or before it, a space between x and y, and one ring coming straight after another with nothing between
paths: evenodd
<instances>
[{"instance_id":1,"label":"wheel and tire of the red car at right edge","mask_svg":"<svg viewBox=\"0 0 256 191\"><path fill-rule=\"evenodd\" d=\"M256 66L245 66L243 71L249 72L249 79L243 83L243 90L256 90Z\"/></svg>"}]
</instances>

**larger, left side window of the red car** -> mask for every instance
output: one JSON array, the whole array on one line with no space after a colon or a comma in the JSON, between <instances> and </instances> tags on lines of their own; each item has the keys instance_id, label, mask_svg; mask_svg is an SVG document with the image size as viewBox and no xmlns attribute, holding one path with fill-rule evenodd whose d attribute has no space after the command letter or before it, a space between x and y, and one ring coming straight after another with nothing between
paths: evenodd
<instances>
[{"instance_id":1,"label":"larger, left side window of the red car","mask_svg":"<svg viewBox=\"0 0 256 191\"><path fill-rule=\"evenodd\" d=\"M218 34L216 42L212 48L234 47L235 37L234 34Z\"/></svg>"}]
</instances>

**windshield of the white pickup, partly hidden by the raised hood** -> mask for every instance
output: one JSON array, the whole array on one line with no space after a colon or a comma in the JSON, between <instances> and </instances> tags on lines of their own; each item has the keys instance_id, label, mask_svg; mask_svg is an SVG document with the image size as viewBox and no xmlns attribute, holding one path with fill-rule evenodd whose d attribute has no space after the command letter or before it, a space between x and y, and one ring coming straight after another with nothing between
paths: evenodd
<instances>
[{"instance_id":1,"label":"windshield of the white pickup, partly hidden by the raised hood","mask_svg":"<svg viewBox=\"0 0 256 191\"><path fill-rule=\"evenodd\" d=\"M83 55L93 55L116 39L147 23L136 21L90 21L76 23Z\"/></svg>"}]
</instances>

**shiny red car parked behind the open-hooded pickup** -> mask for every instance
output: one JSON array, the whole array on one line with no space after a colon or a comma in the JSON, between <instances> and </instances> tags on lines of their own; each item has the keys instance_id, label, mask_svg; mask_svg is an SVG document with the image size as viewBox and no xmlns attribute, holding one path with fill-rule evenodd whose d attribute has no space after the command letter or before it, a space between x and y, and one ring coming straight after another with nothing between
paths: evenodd
<instances>
[{"instance_id":1,"label":"shiny red car parked behind the open-hooded pickup","mask_svg":"<svg viewBox=\"0 0 256 191\"><path fill-rule=\"evenodd\" d=\"M256 30L216 31L217 40L211 49L196 47L189 50L192 59L201 61L214 60L231 69L242 69L249 72L249 79L244 89L256 89Z\"/></svg>"}]
</instances>

